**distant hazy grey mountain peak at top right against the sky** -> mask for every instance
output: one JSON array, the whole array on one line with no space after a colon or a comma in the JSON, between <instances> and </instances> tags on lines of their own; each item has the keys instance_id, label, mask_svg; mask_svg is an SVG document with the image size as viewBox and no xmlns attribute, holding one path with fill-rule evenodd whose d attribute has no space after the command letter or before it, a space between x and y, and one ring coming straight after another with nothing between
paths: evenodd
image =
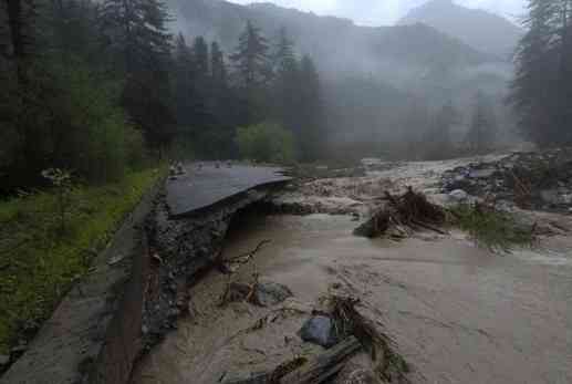
<instances>
[{"instance_id":1,"label":"distant hazy grey mountain peak at top right against the sky","mask_svg":"<svg viewBox=\"0 0 572 384\"><path fill-rule=\"evenodd\" d=\"M457 38L478 51L503 60L511 56L522 30L493 13L469 9L451 0L433 0L413 9L398 25L424 23Z\"/></svg>"}]
</instances>

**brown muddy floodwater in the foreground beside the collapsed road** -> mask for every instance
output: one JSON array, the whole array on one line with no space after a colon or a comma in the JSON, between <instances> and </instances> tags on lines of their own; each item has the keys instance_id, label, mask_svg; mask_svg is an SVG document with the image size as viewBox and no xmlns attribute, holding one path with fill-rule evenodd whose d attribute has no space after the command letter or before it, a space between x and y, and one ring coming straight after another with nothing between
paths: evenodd
<instances>
[{"instance_id":1,"label":"brown muddy floodwater in the foreground beside the collapsed road","mask_svg":"<svg viewBox=\"0 0 572 384\"><path fill-rule=\"evenodd\" d=\"M402 242L352 236L344 216L247 216L225 250L233 257L271 240L232 277L257 272L294 293L290 318L261 333L267 313L218 305L229 278L211 272L191 289L191 315L144 357L135 383L217 383L311 352L297 331L306 308L343 284L377 313L415 383L572 383L572 241L492 255L465 236L420 233ZM308 310L310 311L310 310Z\"/></svg>"}]
</instances>

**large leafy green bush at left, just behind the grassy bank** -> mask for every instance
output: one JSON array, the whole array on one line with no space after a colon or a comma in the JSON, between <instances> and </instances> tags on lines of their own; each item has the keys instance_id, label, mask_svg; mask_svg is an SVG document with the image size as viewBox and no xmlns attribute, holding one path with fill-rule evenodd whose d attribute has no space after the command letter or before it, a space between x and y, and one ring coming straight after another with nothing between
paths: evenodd
<instances>
[{"instance_id":1,"label":"large leafy green bush at left, just behind the grassy bank","mask_svg":"<svg viewBox=\"0 0 572 384\"><path fill-rule=\"evenodd\" d=\"M117 105L119 87L77 62L58 68L58 96L50 101L56 125L54 164L91 181L119 179L143 159L144 142ZM132 162L132 163L129 163Z\"/></svg>"}]
</instances>

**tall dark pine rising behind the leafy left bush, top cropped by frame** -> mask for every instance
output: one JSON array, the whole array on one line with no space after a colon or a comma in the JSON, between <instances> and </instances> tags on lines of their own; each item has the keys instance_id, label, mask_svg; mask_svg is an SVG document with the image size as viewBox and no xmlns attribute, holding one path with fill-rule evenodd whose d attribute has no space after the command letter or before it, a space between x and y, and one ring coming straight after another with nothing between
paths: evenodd
<instances>
[{"instance_id":1,"label":"tall dark pine rising behind the leafy left bush, top cropped by frame","mask_svg":"<svg viewBox=\"0 0 572 384\"><path fill-rule=\"evenodd\" d=\"M111 51L122 59L123 105L149 144L162 149L169 144L175 124L167 8L160 0L105 0L101 20Z\"/></svg>"}]
</instances>

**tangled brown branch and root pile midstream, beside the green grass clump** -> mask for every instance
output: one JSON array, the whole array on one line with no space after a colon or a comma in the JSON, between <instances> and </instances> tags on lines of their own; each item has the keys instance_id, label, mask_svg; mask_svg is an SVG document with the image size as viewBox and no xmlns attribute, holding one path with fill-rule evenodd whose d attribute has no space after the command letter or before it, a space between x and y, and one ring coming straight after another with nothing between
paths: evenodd
<instances>
[{"instance_id":1,"label":"tangled brown branch and root pile midstream, beside the green grass clump","mask_svg":"<svg viewBox=\"0 0 572 384\"><path fill-rule=\"evenodd\" d=\"M438 228L445 224L445 210L429 203L425 195L408 187L402 196L393 196L386 191L385 197L388 204L356 228L354 235L374 238L395 229L394 237L406 237L418 227L445 233Z\"/></svg>"}]
</instances>

